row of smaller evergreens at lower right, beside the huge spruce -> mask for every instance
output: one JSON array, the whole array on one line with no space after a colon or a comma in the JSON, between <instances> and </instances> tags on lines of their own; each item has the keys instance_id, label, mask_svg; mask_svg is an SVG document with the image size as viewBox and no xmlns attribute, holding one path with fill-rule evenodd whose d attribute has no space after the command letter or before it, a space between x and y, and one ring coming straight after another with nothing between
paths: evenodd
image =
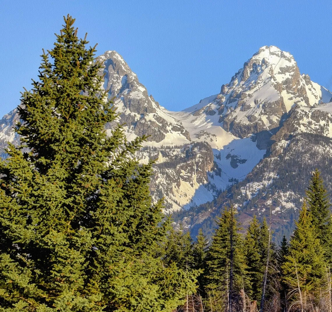
<instances>
[{"instance_id":1,"label":"row of smaller evergreens at lower right, beside the huge spruce","mask_svg":"<svg viewBox=\"0 0 332 312\"><path fill-rule=\"evenodd\" d=\"M246 231L236 210L225 208L210 243L200 231L174 231L168 250L184 269L202 270L198 291L181 311L331 311L332 216L320 172L315 170L290 241L272 242L273 219L253 217ZM191 248L188 248L191 246ZM192 297L194 299L192 299ZM199 300L197 300L197 297ZM187 307L189 305L189 308Z\"/></svg>"}]
</instances>

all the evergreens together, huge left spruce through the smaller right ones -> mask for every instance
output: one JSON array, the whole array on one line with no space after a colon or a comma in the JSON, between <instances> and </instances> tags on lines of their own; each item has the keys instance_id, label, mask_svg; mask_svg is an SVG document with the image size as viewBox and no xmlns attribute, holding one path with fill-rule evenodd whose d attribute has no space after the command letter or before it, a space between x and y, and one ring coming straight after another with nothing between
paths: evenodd
<instances>
[{"instance_id":1,"label":"all the evergreens together, huge left spruce through the smaller right ones","mask_svg":"<svg viewBox=\"0 0 332 312\"><path fill-rule=\"evenodd\" d=\"M315 171L288 243L271 218L246 232L225 208L210 242L152 203L152 164L135 158L95 47L64 17L39 80L22 93L0 160L0 312L332 311L332 221ZM107 136L105 124L114 125Z\"/></svg>"}]
</instances>

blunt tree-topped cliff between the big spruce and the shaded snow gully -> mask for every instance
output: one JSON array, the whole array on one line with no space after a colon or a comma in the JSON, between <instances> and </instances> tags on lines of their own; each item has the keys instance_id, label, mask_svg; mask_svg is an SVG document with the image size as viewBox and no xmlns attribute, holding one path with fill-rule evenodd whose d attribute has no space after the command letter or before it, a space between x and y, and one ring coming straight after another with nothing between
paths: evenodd
<instances>
[{"instance_id":1,"label":"blunt tree-topped cliff between the big spruce and the shaded snow gully","mask_svg":"<svg viewBox=\"0 0 332 312\"><path fill-rule=\"evenodd\" d=\"M203 142L181 147L144 147L140 159L158 159L153 165L150 183L152 198L165 198L165 212L198 206L215 197L215 187L209 184L207 172L214 167L210 145Z\"/></svg>"}]
</instances>

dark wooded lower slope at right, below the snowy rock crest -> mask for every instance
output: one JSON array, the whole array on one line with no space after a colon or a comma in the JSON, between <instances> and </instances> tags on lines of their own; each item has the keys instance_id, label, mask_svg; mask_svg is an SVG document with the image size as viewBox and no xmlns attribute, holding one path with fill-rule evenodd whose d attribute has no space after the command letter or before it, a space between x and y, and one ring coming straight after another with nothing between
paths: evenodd
<instances>
[{"instance_id":1,"label":"dark wooded lower slope at right, below the snowy rock crest","mask_svg":"<svg viewBox=\"0 0 332 312\"><path fill-rule=\"evenodd\" d=\"M302 206L312 172L318 168L329 194L332 191L332 139L310 133L293 136L282 153L263 159L247 177L223 192L209 205L183 211L175 218L195 237L200 228L213 234L214 220L225 205L238 209L238 219L246 228L253 215L263 219L272 213L274 239L290 237L294 220Z\"/></svg>"}]
</instances>

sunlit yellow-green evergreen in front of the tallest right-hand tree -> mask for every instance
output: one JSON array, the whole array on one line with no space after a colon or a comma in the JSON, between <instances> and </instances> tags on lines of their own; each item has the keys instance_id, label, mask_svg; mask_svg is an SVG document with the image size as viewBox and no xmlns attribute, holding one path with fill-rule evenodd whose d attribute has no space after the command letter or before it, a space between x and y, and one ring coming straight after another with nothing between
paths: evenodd
<instances>
[{"instance_id":1,"label":"sunlit yellow-green evergreen in front of the tallest right-hand tree","mask_svg":"<svg viewBox=\"0 0 332 312\"><path fill-rule=\"evenodd\" d=\"M298 294L302 306L318 290L324 275L323 248L304 202L290 240L288 255L282 264L284 282ZM293 293L294 293L293 292Z\"/></svg>"}]
</instances>

